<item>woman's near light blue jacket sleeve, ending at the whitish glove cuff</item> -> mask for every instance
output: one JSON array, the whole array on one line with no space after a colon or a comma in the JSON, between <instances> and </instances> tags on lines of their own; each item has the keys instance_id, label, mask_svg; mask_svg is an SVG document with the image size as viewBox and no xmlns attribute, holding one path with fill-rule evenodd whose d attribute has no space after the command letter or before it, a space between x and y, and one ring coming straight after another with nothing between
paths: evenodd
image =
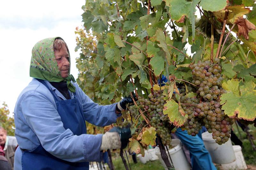
<instances>
[{"instance_id":1,"label":"woman's near light blue jacket sleeve, ending at the whitish glove cuff","mask_svg":"<svg viewBox=\"0 0 256 170\"><path fill-rule=\"evenodd\" d=\"M77 136L65 129L55 104L46 96L27 92L20 107L31 133L36 134L47 152L70 162L101 160L102 134Z\"/></svg>"}]
</instances>

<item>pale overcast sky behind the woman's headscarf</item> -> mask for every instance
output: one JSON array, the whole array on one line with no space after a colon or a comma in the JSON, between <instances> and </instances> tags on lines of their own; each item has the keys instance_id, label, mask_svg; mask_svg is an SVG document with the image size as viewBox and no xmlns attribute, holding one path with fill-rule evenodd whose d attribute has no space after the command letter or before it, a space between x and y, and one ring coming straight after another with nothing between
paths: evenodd
<instances>
[{"instance_id":1,"label":"pale overcast sky behind the woman's headscarf","mask_svg":"<svg viewBox=\"0 0 256 170\"><path fill-rule=\"evenodd\" d=\"M82 26L85 0L11 0L0 5L0 103L14 111L20 92L31 81L31 50L41 39L59 36L71 55L71 74L77 78L75 29ZM0 105L1 107L1 105Z\"/></svg>"}]
</instances>

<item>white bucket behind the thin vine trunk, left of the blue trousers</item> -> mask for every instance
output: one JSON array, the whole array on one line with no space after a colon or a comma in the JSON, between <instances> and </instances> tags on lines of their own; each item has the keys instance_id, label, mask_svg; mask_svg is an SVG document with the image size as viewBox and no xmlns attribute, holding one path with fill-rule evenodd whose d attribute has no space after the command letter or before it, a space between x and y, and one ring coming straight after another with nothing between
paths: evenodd
<instances>
[{"instance_id":1,"label":"white bucket behind the thin vine trunk, left of the blue trousers","mask_svg":"<svg viewBox=\"0 0 256 170\"><path fill-rule=\"evenodd\" d=\"M190 165L185 156L185 153L183 152L180 139L172 139L171 144L172 144L173 148L169 149L169 153L171 155L175 170L190 170ZM156 153L157 157L159 158L162 166L166 167L164 160L161 157L159 147L155 147L155 153ZM167 151L166 151L166 154L168 155ZM169 158L169 155L168 155L168 158ZM171 162L170 159L169 159L169 161ZM164 169L167 170L167 168L164 168Z\"/></svg>"}]
</instances>

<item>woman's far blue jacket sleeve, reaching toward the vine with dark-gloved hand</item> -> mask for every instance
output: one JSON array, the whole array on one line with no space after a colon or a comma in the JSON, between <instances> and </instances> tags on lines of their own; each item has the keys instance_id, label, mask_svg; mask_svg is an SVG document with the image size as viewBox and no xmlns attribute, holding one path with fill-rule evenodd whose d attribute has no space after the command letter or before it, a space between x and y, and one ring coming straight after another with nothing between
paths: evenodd
<instances>
[{"instance_id":1,"label":"woman's far blue jacket sleeve, reaching toward the vine with dark-gloved hand","mask_svg":"<svg viewBox=\"0 0 256 170\"><path fill-rule=\"evenodd\" d=\"M78 93L81 98L84 118L87 122L96 126L107 126L116 123L117 117L121 114L116 114L116 103L110 105L99 105L94 103L83 90L78 87Z\"/></svg>"}]
</instances>

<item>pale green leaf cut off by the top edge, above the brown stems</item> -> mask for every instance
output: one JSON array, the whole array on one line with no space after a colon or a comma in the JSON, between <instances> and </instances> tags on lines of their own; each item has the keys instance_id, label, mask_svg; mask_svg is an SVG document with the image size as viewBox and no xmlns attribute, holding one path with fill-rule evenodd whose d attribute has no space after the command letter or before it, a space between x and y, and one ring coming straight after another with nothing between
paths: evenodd
<instances>
[{"instance_id":1,"label":"pale green leaf cut off by the top edge, above the brown stems","mask_svg":"<svg viewBox=\"0 0 256 170\"><path fill-rule=\"evenodd\" d=\"M226 0L201 0L200 5L205 11L220 11L227 6Z\"/></svg>"}]
</instances>

